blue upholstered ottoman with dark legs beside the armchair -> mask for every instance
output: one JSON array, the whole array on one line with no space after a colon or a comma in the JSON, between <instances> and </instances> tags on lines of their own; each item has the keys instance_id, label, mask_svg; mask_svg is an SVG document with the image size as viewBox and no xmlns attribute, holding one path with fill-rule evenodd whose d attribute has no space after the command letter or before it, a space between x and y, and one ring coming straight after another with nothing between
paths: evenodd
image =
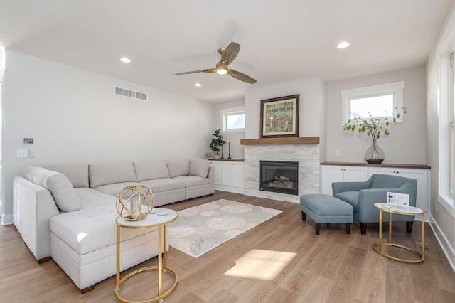
<instances>
[{"instance_id":1,"label":"blue upholstered ottoman with dark legs beside the armchair","mask_svg":"<svg viewBox=\"0 0 455 303\"><path fill-rule=\"evenodd\" d=\"M346 233L350 233L353 223L353 206L333 196L310 193L300 196L301 220L306 216L316 222L316 235L319 235L321 223L345 223Z\"/></svg>"}]
</instances>

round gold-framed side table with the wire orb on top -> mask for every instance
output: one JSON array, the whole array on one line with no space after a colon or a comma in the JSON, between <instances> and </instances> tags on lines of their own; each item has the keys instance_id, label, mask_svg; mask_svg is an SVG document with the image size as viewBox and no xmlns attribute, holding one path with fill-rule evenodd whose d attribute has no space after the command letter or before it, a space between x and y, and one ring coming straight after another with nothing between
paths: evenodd
<instances>
[{"instance_id":1,"label":"round gold-framed side table with the wire orb on top","mask_svg":"<svg viewBox=\"0 0 455 303\"><path fill-rule=\"evenodd\" d=\"M166 213L166 215L164 215ZM144 272L146 270L158 270L158 295L154 298L151 298L146 301L140 302L162 302L163 298L170 294L173 289L176 288L178 282L177 272L166 265L166 228L168 223L175 221L178 218L178 213L168 208L154 208L153 213L149 213L144 219L129 221L125 218L117 217L117 276L116 276L116 285L115 285L115 297L119 302L134 302L128 299L124 299L119 294L120 285L122 285L125 280L133 275L136 275L139 272ZM158 266L148 266L140 268L139 270L134 270L128 275L125 275L120 279L120 228L131 228L131 229L141 229L141 228L158 228ZM161 240L162 239L162 240ZM169 271L172 272L175 276L175 282L173 285L163 293L163 272Z\"/></svg>"}]
</instances>

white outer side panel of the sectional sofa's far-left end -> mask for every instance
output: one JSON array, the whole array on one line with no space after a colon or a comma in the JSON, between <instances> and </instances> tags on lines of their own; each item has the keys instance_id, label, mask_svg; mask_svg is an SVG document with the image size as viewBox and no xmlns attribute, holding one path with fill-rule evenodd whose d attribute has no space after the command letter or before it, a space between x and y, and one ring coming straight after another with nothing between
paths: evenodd
<instances>
[{"instance_id":1,"label":"white outer side panel of the sectional sofa's far-left end","mask_svg":"<svg viewBox=\"0 0 455 303\"><path fill-rule=\"evenodd\" d=\"M47 189L23 178L13 179L14 225L37 260L50 257L49 219L60 213Z\"/></svg>"}]
</instances>

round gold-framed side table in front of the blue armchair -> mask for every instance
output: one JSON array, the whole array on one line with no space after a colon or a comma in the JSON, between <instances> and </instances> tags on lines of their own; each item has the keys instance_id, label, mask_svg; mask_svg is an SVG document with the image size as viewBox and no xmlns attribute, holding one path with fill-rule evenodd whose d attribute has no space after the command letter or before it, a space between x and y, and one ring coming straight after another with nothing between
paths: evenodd
<instances>
[{"instance_id":1,"label":"round gold-framed side table in front of the blue armchair","mask_svg":"<svg viewBox=\"0 0 455 303\"><path fill-rule=\"evenodd\" d=\"M375 203L375 208L379 209L379 243L373 244L373 249L376 252L378 252L379 255L387 257L391 260L405 262L405 263L424 262L424 258L425 258L424 211L422 211L422 209L414 207L414 206L409 206L409 207L407 207L407 206L402 206L402 207L390 206L387 203ZM383 211L385 211L386 213L389 213L389 242L385 242L385 243L382 243L382 212ZM410 215L410 216L420 215L420 216L422 216L422 252L409 248L405 245L392 243L392 213L397 213L399 215ZM418 255L420 257L420 259L419 260L406 260L406 259L401 259L399 257L393 257L392 255L388 255L387 253L382 251L383 245L388 245L389 247L392 246L395 248L403 248L405 250L410 250L411 252L414 252L416 255Z\"/></svg>"}]
</instances>

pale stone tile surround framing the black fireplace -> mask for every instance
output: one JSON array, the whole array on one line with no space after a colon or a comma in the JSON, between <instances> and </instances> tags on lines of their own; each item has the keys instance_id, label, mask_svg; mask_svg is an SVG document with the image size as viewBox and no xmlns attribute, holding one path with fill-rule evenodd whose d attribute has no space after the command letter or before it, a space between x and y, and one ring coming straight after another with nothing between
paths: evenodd
<instances>
[{"instance_id":1,"label":"pale stone tile surround framing the black fireplace","mask_svg":"<svg viewBox=\"0 0 455 303\"><path fill-rule=\"evenodd\" d=\"M289 138L290 139L290 138ZM241 144L250 142L242 140ZM318 142L319 143L319 140ZM320 151L319 144L245 144L245 195L299 203L306 193L319 193ZM299 195L259 190L259 161L298 161Z\"/></svg>"}]
</instances>

